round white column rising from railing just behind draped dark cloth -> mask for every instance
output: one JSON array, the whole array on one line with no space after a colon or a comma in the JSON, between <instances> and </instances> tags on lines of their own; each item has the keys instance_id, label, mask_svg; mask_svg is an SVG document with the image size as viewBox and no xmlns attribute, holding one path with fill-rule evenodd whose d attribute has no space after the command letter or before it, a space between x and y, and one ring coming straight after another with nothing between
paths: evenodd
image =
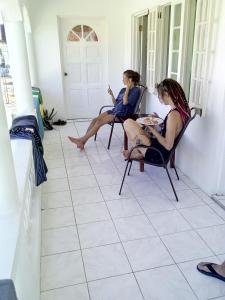
<instances>
[{"instance_id":1,"label":"round white column rising from railing just behind draped dark cloth","mask_svg":"<svg viewBox=\"0 0 225 300\"><path fill-rule=\"evenodd\" d=\"M22 21L5 22L18 115L34 113L25 31Z\"/></svg>"}]
</instances>

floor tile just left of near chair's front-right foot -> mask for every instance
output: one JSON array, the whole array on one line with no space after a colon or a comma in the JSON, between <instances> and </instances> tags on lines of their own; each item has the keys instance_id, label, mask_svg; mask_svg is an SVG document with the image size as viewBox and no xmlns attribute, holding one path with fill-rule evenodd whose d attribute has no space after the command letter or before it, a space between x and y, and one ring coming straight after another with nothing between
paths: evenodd
<instances>
[{"instance_id":1,"label":"floor tile just left of near chair's front-right foot","mask_svg":"<svg viewBox=\"0 0 225 300\"><path fill-rule=\"evenodd\" d=\"M137 197L137 200L146 214L175 209L173 203L162 194Z\"/></svg>"}]
</instances>

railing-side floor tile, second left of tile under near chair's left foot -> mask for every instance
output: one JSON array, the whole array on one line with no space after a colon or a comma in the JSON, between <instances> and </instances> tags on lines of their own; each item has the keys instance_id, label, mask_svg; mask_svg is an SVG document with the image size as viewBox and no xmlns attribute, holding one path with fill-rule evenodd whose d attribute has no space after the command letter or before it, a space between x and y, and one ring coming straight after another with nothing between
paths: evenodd
<instances>
[{"instance_id":1,"label":"railing-side floor tile, second left of tile under near chair's left foot","mask_svg":"<svg viewBox=\"0 0 225 300\"><path fill-rule=\"evenodd\" d=\"M64 206L72 206L69 191L47 193L42 195L42 208L57 208Z\"/></svg>"}]
</instances>

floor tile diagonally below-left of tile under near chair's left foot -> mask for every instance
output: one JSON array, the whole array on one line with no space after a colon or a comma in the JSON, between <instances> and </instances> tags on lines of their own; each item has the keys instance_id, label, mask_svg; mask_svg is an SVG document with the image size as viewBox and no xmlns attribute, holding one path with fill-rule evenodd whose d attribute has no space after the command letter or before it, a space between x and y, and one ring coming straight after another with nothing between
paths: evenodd
<instances>
[{"instance_id":1,"label":"floor tile diagonally below-left of tile under near chair's left foot","mask_svg":"<svg viewBox=\"0 0 225 300\"><path fill-rule=\"evenodd\" d=\"M105 202L90 203L74 207L77 224L109 220Z\"/></svg>"}]
</instances>

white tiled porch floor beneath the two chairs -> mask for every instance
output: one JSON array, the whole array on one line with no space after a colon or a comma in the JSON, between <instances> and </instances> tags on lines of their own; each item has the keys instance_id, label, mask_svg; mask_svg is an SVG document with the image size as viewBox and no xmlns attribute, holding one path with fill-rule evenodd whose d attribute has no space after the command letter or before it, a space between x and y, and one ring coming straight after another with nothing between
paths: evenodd
<instances>
[{"instance_id":1,"label":"white tiled porch floor beneath the two chairs","mask_svg":"<svg viewBox=\"0 0 225 300\"><path fill-rule=\"evenodd\" d=\"M196 270L225 259L225 211L181 173L177 203L165 171L138 164L119 196L121 128L109 151L105 126L81 152L67 136L87 125L45 134L41 300L225 299L225 284Z\"/></svg>"}]
</instances>

